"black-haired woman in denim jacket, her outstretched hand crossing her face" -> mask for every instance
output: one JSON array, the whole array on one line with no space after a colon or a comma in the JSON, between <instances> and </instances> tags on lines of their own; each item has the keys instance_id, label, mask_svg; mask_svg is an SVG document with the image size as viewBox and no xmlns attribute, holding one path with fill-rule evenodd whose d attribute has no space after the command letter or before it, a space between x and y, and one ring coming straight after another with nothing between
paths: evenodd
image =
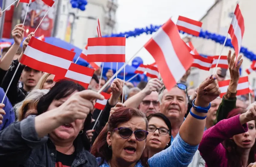
<instances>
[{"instance_id":1,"label":"black-haired woman in denim jacket, her outstretched hand crossing her face","mask_svg":"<svg viewBox=\"0 0 256 167\"><path fill-rule=\"evenodd\" d=\"M104 97L70 80L56 82L39 100L38 116L0 132L1 166L98 166L85 133L93 99Z\"/></svg>"}]
</instances>

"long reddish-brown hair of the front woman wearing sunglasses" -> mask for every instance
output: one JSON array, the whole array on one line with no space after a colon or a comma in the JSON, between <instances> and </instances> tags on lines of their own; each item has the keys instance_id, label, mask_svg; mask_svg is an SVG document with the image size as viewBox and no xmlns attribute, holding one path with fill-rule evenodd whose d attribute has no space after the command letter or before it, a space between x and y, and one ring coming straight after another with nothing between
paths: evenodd
<instances>
[{"instance_id":1,"label":"long reddish-brown hair of the front woman wearing sunglasses","mask_svg":"<svg viewBox=\"0 0 256 167\"><path fill-rule=\"evenodd\" d=\"M134 116L144 118L146 129L148 129L148 120L146 115L136 108L120 107L111 115L107 125L102 129L92 145L91 153L95 157L101 157L101 164L104 163L105 160L109 161L112 158L112 150L108 148L107 143L108 132L112 132L120 123L127 122ZM146 153L142 153L140 161L143 166L148 167L148 155Z\"/></svg>"}]
</instances>

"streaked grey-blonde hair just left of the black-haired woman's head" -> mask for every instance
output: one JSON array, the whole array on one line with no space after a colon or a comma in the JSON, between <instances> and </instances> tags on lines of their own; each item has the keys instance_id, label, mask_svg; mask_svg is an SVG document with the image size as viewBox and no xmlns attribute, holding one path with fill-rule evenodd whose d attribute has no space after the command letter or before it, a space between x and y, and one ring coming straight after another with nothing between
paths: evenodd
<instances>
[{"instance_id":1,"label":"streaked grey-blonde hair just left of the black-haired woman's head","mask_svg":"<svg viewBox=\"0 0 256 167\"><path fill-rule=\"evenodd\" d=\"M37 107L37 103L39 102L39 99L47 94L49 90L32 90L26 98L17 103L13 108L17 116L17 121L21 121L25 118L25 114L27 112L28 108L35 108Z\"/></svg>"}]
</instances>

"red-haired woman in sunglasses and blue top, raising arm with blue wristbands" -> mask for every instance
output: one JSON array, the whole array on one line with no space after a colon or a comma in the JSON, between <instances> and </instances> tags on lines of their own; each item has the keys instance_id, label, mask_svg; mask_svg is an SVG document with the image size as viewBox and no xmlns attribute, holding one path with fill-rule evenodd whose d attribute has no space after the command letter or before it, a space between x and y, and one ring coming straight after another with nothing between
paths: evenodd
<instances>
[{"instance_id":1,"label":"red-haired woman in sunglasses and blue top, raising arm with blue wristbands","mask_svg":"<svg viewBox=\"0 0 256 167\"><path fill-rule=\"evenodd\" d=\"M220 95L216 79L217 76L211 76L201 83L194 101L196 106L207 108ZM148 135L146 115L135 108L112 110L115 112L109 117L91 151L98 157L101 167L188 166L202 139L207 115L192 108L171 146L148 159L148 155L143 153Z\"/></svg>"}]
</instances>

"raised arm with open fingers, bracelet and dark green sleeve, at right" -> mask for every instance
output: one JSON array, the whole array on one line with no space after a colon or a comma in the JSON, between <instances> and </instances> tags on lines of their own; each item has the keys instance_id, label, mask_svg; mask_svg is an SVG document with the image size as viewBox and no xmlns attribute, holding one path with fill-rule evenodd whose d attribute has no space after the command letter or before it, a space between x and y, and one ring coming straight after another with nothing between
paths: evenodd
<instances>
[{"instance_id":1,"label":"raised arm with open fingers, bracelet and dark green sleeve, at right","mask_svg":"<svg viewBox=\"0 0 256 167\"><path fill-rule=\"evenodd\" d=\"M219 121L226 119L228 113L236 108L236 92L238 80L240 77L239 68L242 65L243 59L239 56L239 64L236 65L235 53L231 57L231 51L229 50L227 59L229 64L230 82L226 94L223 96L222 102L218 108L215 124Z\"/></svg>"}]
</instances>

